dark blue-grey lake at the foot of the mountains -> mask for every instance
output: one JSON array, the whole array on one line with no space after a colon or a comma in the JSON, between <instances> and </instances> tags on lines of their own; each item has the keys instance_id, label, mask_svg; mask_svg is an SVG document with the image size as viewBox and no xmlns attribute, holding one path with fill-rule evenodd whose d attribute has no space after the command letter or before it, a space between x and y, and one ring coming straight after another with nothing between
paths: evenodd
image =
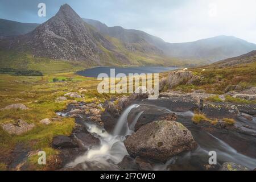
<instances>
[{"instance_id":1,"label":"dark blue-grey lake at the foot of the mountains","mask_svg":"<svg viewBox=\"0 0 256 182\"><path fill-rule=\"evenodd\" d=\"M97 67L89 68L84 71L77 72L78 75L85 77L98 77L100 73L106 73L110 77L110 69L114 69L115 76L118 73L124 73L126 76L129 73L160 73L177 69L176 67Z\"/></svg>"}]
</instances>

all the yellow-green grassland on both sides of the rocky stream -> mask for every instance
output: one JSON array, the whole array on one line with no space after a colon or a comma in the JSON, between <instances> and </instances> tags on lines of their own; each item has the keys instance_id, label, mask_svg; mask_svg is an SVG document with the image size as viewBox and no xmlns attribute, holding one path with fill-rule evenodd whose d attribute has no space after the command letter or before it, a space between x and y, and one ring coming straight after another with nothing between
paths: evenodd
<instances>
[{"instance_id":1,"label":"all the yellow-green grassland on both sides of the rocky stream","mask_svg":"<svg viewBox=\"0 0 256 182\"><path fill-rule=\"evenodd\" d=\"M236 89L237 85L238 88L243 90L256 85L255 66L255 63L251 63L234 68L195 68L192 69L193 75L200 76L200 81L195 81L190 85L180 83L174 90L193 92L194 90L204 89L207 93L223 94ZM205 69L205 71L202 72L202 69ZM160 77L166 76L168 76L168 73L160 75ZM69 104L77 102L99 105L108 100L115 100L118 97L117 95L99 94L96 90L97 84L96 78L78 76L74 72L51 72L44 76L1 74L0 108L22 103L28 109L1 109L0 125L13 123L15 126L19 119L22 119L28 124L34 124L35 127L21 135L8 134L0 127L0 170L23 168L31 170L58 169L61 165L58 160L59 151L52 147L52 139L58 135L71 135L75 127L75 119L59 117L56 112L67 109ZM227 90L228 88L230 90ZM77 92L82 97L67 96L67 100L59 100L64 94L71 92ZM208 100L220 102L219 98L216 97L208 98ZM234 103L255 104L255 100L233 99L231 101ZM231 101L229 100L229 102ZM46 118L52 121L49 125L40 122ZM37 152L40 150L46 151L49 160L47 165L38 164ZM26 161L22 161L26 151L29 151L30 155L26 156Z\"/></svg>"}]
</instances>

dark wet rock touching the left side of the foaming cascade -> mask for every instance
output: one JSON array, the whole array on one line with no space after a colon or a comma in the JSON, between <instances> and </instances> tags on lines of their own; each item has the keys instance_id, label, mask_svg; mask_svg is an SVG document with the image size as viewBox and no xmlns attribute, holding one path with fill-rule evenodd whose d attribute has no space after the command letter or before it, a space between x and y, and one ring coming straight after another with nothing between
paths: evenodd
<instances>
[{"instance_id":1,"label":"dark wet rock touching the left side of the foaming cascade","mask_svg":"<svg viewBox=\"0 0 256 182\"><path fill-rule=\"evenodd\" d=\"M73 134L72 138L81 148L90 148L100 144L100 139L93 137L88 132Z\"/></svg>"}]
</instances>

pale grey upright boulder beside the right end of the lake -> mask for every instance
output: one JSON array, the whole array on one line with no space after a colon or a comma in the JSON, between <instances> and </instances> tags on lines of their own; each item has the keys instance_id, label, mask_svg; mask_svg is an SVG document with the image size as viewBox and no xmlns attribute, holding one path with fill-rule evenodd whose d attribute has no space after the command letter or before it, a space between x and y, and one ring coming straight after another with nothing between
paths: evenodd
<instances>
[{"instance_id":1,"label":"pale grey upright boulder beside the right end of the lake","mask_svg":"<svg viewBox=\"0 0 256 182\"><path fill-rule=\"evenodd\" d=\"M168 88L174 88L179 84L186 84L188 80L193 77L193 72L191 71L173 71L167 77L166 84Z\"/></svg>"}]
</instances>

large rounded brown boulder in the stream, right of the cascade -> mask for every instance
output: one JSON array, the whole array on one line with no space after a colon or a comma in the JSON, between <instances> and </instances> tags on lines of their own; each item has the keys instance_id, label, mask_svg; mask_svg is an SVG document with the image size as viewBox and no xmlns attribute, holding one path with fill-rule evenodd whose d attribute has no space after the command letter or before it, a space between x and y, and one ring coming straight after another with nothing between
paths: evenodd
<instances>
[{"instance_id":1,"label":"large rounded brown boulder in the stream, right of the cascade","mask_svg":"<svg viewBox=\"0 0 256 182\"><path fill-rule=\"evenodd\" d=\"M142 126L125 140L128 153L133 156L166 162L172 156L197 146L191 132L175 121L156 121Z\"/></svg>"}]
</instances>

